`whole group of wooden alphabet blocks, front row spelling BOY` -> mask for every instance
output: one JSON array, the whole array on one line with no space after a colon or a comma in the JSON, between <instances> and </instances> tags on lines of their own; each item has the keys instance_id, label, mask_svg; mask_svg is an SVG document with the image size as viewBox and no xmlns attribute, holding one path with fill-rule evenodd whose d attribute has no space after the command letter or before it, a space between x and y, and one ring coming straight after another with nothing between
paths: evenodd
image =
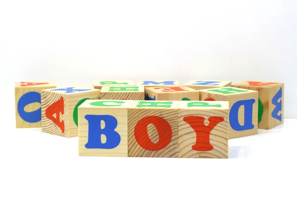
<instances>
[{"instance_id":1,"label":"whole group of wooden alphabet blocks, front row spelling BOY","mask_svg":"<svg viewBox=\"0 0 297 198\"><path fill-rule=\"evenodd\" d=\"M284 83L94 81L93 87L15 83L16 128L78 136L81 156L228 158L228 139L284 121Z\"/></svg>"}]
</instances>

